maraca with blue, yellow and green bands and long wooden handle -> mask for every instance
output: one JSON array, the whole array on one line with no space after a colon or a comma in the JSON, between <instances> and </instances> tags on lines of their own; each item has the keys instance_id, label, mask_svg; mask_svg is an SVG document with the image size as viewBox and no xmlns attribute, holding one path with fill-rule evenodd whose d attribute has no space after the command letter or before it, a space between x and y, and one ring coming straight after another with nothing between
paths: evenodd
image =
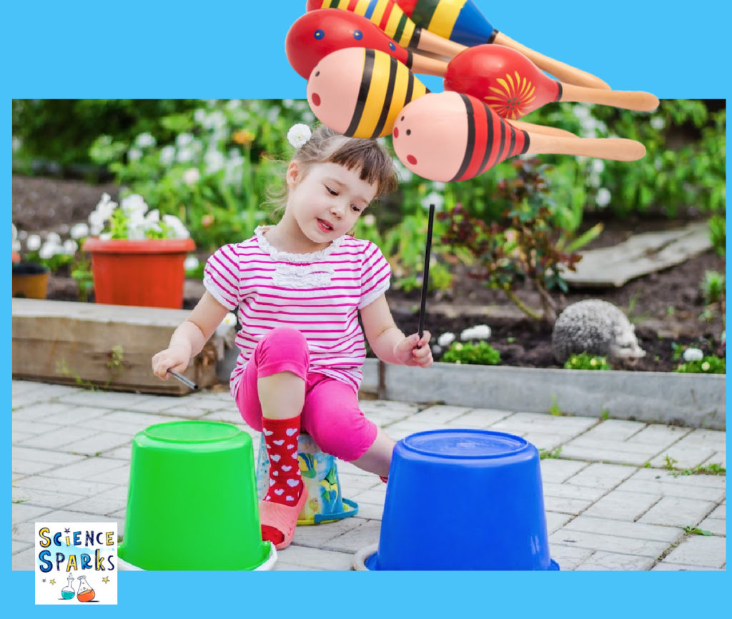
<instances>
[{"instance_id":1,"label":"maraca with blue, yellow and green bands and long wooden handle","mask_svg":"<svg viewBox=\"0 0 732 619\"><path fill-rule=\"evenodd\" d=\"M473 0L395 0L417 27L445 39L472 47L486 43L505 45L527 56L542 70L558 77L567 84L588 88L610 88L600 80L569 64L527 48L526 45L499 32L485 18Z\"/></svg>"}]
</instances>

